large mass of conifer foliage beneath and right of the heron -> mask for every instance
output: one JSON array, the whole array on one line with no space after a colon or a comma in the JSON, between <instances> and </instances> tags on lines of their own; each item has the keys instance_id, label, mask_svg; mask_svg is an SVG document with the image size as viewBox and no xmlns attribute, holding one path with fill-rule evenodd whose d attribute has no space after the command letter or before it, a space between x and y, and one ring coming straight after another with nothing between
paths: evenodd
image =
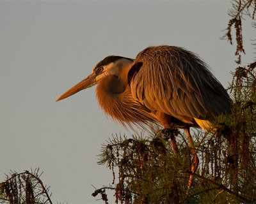
<instances>
[{"instance_id":1,"label":"large mass of conifer foliage beneath and right of the heron","mask_svg":"<svg viewBox=\"0 0 256 204\"><path fill-rule=\"evenodd\" d=\"M232 1L230 21L223 39L236 39L237 64L241 64L242 22L255 22L256 1ZM232 28L235 32L232 36ZM191 175L192 152L181 130L152 128L148 136L114 136L102 145L99 164L113 172L113 182L95 190L109 203L107 191L114 191L115 203L255 203L256 202L256 62L232 72L228 92L232 114L212 121L216 133L194 129L193 139L200 164ZM173 154L170 138L175 136L179 155ZM113 194L113 193L112 193Z\"/></svg>"}]
</instances>

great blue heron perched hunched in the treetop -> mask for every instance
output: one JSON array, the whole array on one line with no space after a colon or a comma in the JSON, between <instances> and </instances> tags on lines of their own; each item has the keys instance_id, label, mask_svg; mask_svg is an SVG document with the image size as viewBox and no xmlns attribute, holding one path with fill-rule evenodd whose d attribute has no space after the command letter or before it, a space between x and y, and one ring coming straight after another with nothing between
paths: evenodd
<instances>
[{"instance_id":1,"label":"great blue heron perched hunched in the treetop","mask_svg":"<svg viewBox=\"0 0 256 204\"><path fill-rule=\"evenodd\" d=\"M125 127L145 128L153 122L185 129L194 155L193 173L198 157L189 128L211 129L211 119L230 113L230 98L207 64L180 47L148 47L136 59L108 56L57 101L95 84L101 108ZM177 155L175 138L172 145Z\"/></svg>"}]
</instances>

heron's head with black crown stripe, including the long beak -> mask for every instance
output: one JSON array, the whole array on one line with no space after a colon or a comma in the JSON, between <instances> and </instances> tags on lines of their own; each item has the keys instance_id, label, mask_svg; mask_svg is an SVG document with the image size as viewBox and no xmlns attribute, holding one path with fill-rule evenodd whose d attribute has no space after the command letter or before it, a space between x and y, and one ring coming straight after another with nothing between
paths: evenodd
<instances>
[{"instance_id":1,"label":"heron's head with black crown stripe, including the long beak","mask_svg":"<svg viewBox=\"0 0 256 204\"><path fill-rule=\"evenodd\" d=\"M124 68L132 62L133 59L126 57L115 55L105 57L95 66L95 68L92 69L92 73L88 77L84 78L81 82L68 89L68 91L62 94L56 101L68 98L69 96L72 96L83 89L92 87L109 75L119 77L124 72Z\"/></svg>"}]
</instances>

